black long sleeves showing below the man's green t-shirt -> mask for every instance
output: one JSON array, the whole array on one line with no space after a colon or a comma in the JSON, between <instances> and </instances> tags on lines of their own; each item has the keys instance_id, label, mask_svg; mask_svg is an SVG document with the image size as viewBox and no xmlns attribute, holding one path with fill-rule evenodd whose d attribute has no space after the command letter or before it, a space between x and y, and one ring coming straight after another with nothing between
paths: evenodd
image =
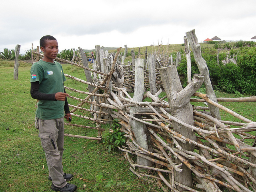
<instances>
[{"instance_id":1,"label":"black long sleeves showing below the man's green t-shirt","mask_svg":"<svg viewBox=\"0 0 256 192\"><path fill-rule=\"evenodd\" d=\"M31 87L30 87L30 95L33 99L38 99L38 100L48 100L48 101L57 101L55 99L55 93L53 94L46 94L46 93L41 93L39 92L39 82L31 82ZM65 89L64 92L66 93ZM70 113L69 107L68 107L68 100L67 98L65 99L65 105L64 105L64 111L66 114Z\"/></svg>"}]
</instances>

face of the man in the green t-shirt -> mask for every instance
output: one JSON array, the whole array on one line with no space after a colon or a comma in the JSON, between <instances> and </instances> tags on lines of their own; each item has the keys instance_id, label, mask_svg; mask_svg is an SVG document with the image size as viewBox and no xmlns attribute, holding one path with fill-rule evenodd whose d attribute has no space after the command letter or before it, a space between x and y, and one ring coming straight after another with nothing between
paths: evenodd
<instances>
[{"instance_id":1,"label":"face of the man in the green t-shirt","mask_svg":"<svg viewBox=\"0 0 256 192\"><path fill-rule=\"evenodd\" d=\"M54 62L54 59L57 57L59 47L56 40L46 40L45 47L41 47L42 52L44 52L43 61Z\"/></svg>"}]
</instances>

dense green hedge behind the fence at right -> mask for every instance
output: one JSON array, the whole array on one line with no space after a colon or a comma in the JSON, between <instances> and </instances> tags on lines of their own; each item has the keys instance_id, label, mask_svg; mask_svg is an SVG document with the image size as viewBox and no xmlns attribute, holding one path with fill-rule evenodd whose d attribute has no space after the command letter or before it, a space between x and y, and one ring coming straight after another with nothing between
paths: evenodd
<instances>
[{"instance_id":1,"label":"dense green hedge behind the fence at right","mask_svg":"<svg viewBox=\"0 0 256 192\"><path fill-rule=\"evenodd\" d=\"M217 65L217 50L202 50L202 57L206 60L214 89L228 93L238 91L243 94L256 95L256 47L230 50L229 55L237 55L237 65L234 63L222 64L221 61L226 58L225 53L219 54L220 64ZM186 86L187 82L186 70L186 58L184 57L178 66L183 86ZM191 71L192 75L199 73L193 53L191 53Z\"/></svg>"}]
</instances>

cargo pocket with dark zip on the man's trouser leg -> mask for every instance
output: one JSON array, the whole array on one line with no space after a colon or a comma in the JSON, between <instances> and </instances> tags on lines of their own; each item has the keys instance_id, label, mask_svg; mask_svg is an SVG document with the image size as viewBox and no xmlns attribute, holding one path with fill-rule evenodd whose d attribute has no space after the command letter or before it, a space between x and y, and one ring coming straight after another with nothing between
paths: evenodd
<instances>
[{"instance_id":1,"label":"cargo pocket with dark zip on the man's trouser leg","mask_svg":"<svg viewBox=\"0 0 256 192\"><path fill-rule=\"evenodd\" d=\"M41 144L46 154L54 154L58 152L57 143L54 134L52 133L39 133Z\"/></svg>"}]
</instances>

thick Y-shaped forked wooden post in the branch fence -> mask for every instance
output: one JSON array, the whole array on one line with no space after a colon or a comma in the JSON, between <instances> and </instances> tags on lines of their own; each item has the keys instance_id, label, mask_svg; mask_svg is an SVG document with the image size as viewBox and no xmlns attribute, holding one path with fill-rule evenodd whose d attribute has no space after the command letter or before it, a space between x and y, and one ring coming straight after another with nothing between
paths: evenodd
<instances>
[{"instance_id":1,"label":"thick Y-shaped forked wooden post in the branch fence","mask_svg":"<svg viewBox=\"0 0 256 192\"><path fill-rule=\"evenodd\" d=\"M178 118L186 124L193 125L193 107L190 104L190 98L202 85L204 80L203 76L200 74L194 74L192 82L188 84L188 86L186 86L184 89L182 89L176 66L160 68L160 74L162 77L172 116ZM190 138L190 140L196 141L196 135L194 134L192 129L182 126L175 121L172 122L172 127L174 131L182 134L187 138ZM183 149L186 149L188 151L194 150L193 144L190 144L188 142L184 144L180 141L178 141L178 143ZM180 160L176 159L176 163L179 164ZM184 164L181 168L183 169L182 172L175 171L175 180L185 186L192 187L193 180L191 170ZM183 190L181 187L178 187L177 189L179 191Z\"/></svg>"}]
</instances>

